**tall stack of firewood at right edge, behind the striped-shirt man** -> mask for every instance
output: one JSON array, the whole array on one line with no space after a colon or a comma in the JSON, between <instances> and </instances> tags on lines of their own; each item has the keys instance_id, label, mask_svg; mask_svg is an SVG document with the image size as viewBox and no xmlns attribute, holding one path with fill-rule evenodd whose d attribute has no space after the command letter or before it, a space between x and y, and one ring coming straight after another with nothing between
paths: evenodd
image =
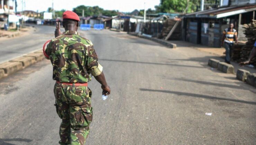
<instances>
[{"instance_id":1,"label":"tall stack of firewood at right edge, behind the striped-shirt man","mask_svg":"<svg viewBox=\"0 0 256 145\"><path fill-rule=\"evenodd\" d=\"M246 42L246 45L241 48L240 59L238 60L238 62L248 60L250 52L253 49L255 39L256 39L256 20L253 20L253 22L249 24L245 24L244 28L245 28L245 35L248 41ZM255 58L253 59L251 64L256 66Z\"/></svg>"}]
</instances>

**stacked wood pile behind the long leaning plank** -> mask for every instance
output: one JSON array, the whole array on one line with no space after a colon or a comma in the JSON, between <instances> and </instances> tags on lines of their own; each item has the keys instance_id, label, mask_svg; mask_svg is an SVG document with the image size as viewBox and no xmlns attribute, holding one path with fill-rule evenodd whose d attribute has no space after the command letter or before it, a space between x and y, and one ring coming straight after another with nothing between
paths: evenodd
<instances>
[{"instance_id":1,"label":"stacked wood pile behind the long leaning plank","mask_svg":"<svg viewBox=\"0 0 256 145\"><path fill-rule=\"evenodd\" d=\"M173 26L177 21L168 19L163 23L163 29L161 32L160 38L165 38L168 33L172 30ZM172 33L172 36L168 40L180 40L181 38L181 22L176 27L175 31Z\"/></svg>"}]
</instances>

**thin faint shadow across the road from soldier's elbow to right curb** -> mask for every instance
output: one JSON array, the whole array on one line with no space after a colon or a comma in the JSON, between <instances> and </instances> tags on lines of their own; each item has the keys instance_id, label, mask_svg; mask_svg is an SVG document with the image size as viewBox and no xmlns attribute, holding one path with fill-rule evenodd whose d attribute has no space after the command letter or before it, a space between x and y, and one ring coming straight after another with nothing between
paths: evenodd
<instances>
[{"instance_id":1,"label":"thin faint shadow across the road from soldier's elbow to right curb","mask_svg":"<svg viewBox=\"0 0 256 145\"><path fill-rule=\"evenodd\" d=\"M200 67L200 66L162 64L162 63L156 63L156 62L141 62L141 61L129 61L129 60L111 60L111 59L99 59L99 60L103 60L103 61L117 61L117 62L128 62L128 63L139 63L139 64L149 64L149 65L167 65L167 66L178 66L178 67L204 68L204 67Z\"/></svg>"}]
</instances>

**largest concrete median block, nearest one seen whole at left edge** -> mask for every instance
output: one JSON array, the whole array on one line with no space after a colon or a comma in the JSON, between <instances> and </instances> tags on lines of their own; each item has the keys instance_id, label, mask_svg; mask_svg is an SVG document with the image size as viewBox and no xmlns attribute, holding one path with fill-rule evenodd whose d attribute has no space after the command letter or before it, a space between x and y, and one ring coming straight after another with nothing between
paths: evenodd
<instances>
[{"instance_id":1,"label":"largest concrete median block, nearest one seen whole at left edge","mask_svg":"<svg viewBox=\"0 0 256 145\"><path fill-rule=\"evenodd\" d=\"M0 64L0 69L4 70L4 76L8 76L13 72L21 70L22 68L21 62L4 62Z\"/></svg>"}]
</instances>

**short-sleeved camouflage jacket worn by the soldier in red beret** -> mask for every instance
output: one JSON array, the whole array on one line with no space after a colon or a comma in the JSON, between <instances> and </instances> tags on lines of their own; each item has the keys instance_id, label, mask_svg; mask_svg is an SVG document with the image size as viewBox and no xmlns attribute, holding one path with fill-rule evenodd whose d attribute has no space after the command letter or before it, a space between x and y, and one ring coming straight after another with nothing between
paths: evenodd
<instances>
[{"instance_id":1,"label":"short-sleeved camouflage jacket worn by the soldier in red beret","mask_svg":"<svg viewBox=\"0 0 256 145\"><path fill-rule=\"evenodd\" d=\"M53 79L68 83L86 83L89 74L98 76L102 66L90 40L76 31L65 31L52 39L45 50L53 65Z\"/></svg>"}]
</instances>

